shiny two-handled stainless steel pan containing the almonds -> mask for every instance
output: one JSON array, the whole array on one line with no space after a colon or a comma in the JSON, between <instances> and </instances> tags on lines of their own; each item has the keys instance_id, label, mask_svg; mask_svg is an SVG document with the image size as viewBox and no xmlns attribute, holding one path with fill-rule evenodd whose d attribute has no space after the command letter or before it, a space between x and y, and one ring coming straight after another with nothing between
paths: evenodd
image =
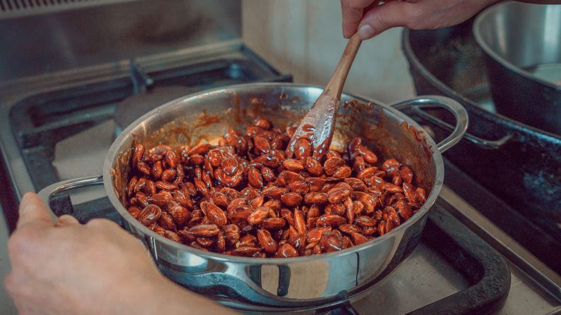
<instances>
[{"instance_id":1,"label":"shiny two-handled stainless steel pan containing the almonds","mask_svg":"<svg viewBox=\"0 0 561 315\"><path fill-rule=\"evenodd\" d=\"M408 221L375 240L341 252L289 259L232 257L181 245L135 220L126 207L124 187L133 137L147 144L191 143L219 137L229 128L241 130L257 117L286 126L297 123L322 88L286 83L234 85L176 99L146 113L115 140L107 153L102 176L66 180L46 187L40 195L49 204L57 193L101 185L126 222L126 228L150 249L157 266L172 280L219 299L237 309L304 309L337 304L356 297L385 278L418 244L427 211L438 197L444 168L441 152L464 134L464 108L446 97L418 97L387 106L349 94L342 101L334 144L361 136L382 157L395 156L413 168L416 183L428 192L426 204ZM441 106L452 111L457 124L439 144L399 109Z\"/></svg>"}]
</instances>

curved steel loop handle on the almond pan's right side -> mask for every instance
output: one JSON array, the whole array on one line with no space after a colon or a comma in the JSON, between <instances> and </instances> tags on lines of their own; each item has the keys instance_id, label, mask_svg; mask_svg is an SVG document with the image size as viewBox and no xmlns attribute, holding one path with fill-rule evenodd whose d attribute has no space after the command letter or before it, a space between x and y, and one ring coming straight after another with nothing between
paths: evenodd
<instances>
[{"instance_id":1,"label":"curved steel loop handle on the almond pan's right side","mask_svg":"<svg viewBox=\"0 0 561 315\"><path fill-rule=\"evenodd\" d=\"M399 103L395 103L390 106L400 111L409 107L423 108L437 106L447 109L452 114L454 114L454 118L456 118L456 125L454 126L454 130L448 137L446 137L445 140L442 140L437 144L440 153L445 152L447 149L450 149L452 146L454 146L454 144L457 144L457 142L462 139L464 133L466 133L469 123L468 114L466 109L464 109L464 106L462 106L462 104L459 104L459 102L455 101L454 99L450 99L450 97L425 95L422 97L415 97L414 99L408 99L406 101L400 101Z\"/></svg>"}]
</instances>

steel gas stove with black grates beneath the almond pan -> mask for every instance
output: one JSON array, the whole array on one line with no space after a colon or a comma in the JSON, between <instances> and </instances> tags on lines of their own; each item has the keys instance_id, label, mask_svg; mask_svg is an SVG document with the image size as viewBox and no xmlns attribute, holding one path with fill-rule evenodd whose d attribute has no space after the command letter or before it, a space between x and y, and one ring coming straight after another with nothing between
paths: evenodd
<instances>
[{"instance_id":1,"label":"steel gas stove with black grates beneath the almond pan","mask_svg":"<svg viewBox=\"0 0 561 315\"><path fill-rule=\"evenodd\" d=\"M215 46L212 51L212 56L158 56L152 59L157 63L150 58L126 61L111 75L90 71L26 82L33 86L32 93L22 93L14 85L5 88L0 107L1 183L6 186L2 219L10 229L17 219L16 204L23 192L101 173L107 149L116 133L126 127L121 118L116 122L115 115L126 99L143 99L147 93L177 85L195 91L239 82L291 80L241 42ZM204 63L198 58L202 55ZM95 70L99 73L101 69ZM127 119L130 122L131 118ZM492 196L448 161L445 173L445 184L466 185L479 195ZM71 194L59 200L57 207L57 212L71 213L82 222L105 217L121 223L102 190ZM559 283L557 273L445 186L431 210L421 245L380 285L358 297L342 295L340 303L313 309L246 305L243 311L551 314L561 310ZM228 300L222 302L229 304Z\"/></svg>"}]
</instances>

